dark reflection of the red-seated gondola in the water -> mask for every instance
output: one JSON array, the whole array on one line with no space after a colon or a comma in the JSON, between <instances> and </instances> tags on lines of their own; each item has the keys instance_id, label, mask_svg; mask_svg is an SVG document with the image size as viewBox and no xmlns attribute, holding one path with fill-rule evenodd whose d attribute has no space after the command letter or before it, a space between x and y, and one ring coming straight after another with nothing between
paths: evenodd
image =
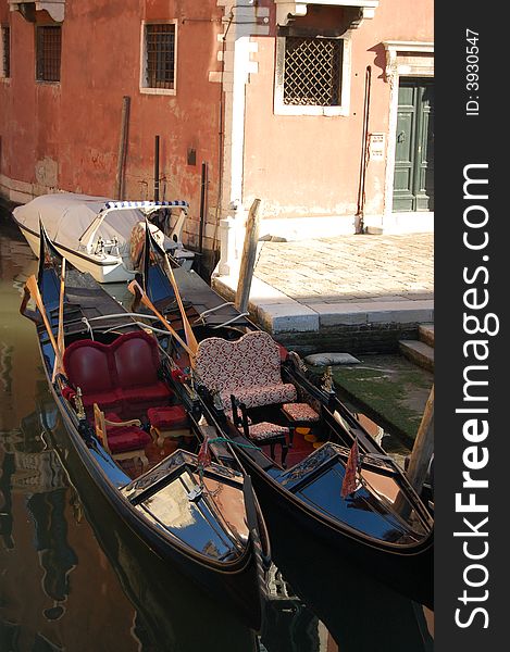
<instances>
[{"instance_id":1,"label":"dark reflection of the red-seated gondola in the water","mask_svg":"<svg viewBox=\"0 0 510 652\"><path fill-rule=\"evenodd\" d=\"M87 482L87 472L70 442L51 397L38 401L36 415L40 422L37 431L42 427L47 450L55 454L52 449L57 448L65 454L65 469L74 485ZM58 473L59 468L55 471ZM76 494L74 489L73 494ZM128 524L117 511L104 504L99 487L92 485L79 498L74 496L73 510L84 511L102 552L135 609L133 626L140 640L140 649L256 652L257 635L253 630L227 612L221 600L196 590L194 582L187 581L179 572L178 564L157 559L140 538L133 537ZM203 616L203 613L207 615ZM204 626L196 626L197 614L201 614Z\"/></svg>"}]
</instances>

